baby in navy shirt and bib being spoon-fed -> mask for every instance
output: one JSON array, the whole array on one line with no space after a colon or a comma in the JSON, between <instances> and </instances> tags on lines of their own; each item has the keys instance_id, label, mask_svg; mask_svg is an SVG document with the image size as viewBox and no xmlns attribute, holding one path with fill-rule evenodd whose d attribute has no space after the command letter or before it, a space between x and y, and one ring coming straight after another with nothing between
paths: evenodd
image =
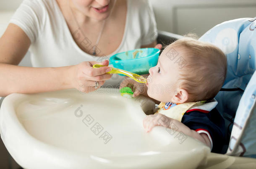
<instances>
[{"instance_id":1,"label":"baby in navy shirt and bib being spoon-fed","mask_svg":"<svg viewBox=\"0 0 256 169\"><path fill-rule=\"evenodd\" d=\"M215 106L227 72L225 54L210 43L185 38L168 45L157 66L149 69L147 93L161 101L154 115L143 121L147 132L154 126L174 128L220 153L225 122Z\"/></svg>"}]
</instances>

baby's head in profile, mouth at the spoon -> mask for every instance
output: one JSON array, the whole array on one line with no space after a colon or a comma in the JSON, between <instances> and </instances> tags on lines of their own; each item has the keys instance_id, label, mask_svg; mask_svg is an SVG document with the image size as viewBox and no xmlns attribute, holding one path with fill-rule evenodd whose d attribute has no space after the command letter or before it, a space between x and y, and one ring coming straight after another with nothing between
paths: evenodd
<instances>
[{"instance_id":1,"label":"baby's head in profile, mouth at the spoon","mask_svg":"<svg viewBox=\"0 0 256 169\"><path fill-rule=\"evenodd\" d=\"M216 46L192 38L176 40L149 69L147 93L162 102L209 100L221 89L226 72L226 56Z\"/></svg>"}]
</instances>

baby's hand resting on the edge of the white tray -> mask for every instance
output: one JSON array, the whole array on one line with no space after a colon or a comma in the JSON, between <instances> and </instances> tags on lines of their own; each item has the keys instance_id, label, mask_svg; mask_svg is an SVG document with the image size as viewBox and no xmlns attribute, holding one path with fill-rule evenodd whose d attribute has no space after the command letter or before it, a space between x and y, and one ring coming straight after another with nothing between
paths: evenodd
<instances>
[{"instance_id":1,"label":"baby's hand resting on the edge of the white tray","mask_svg":"<svg viewBox=\"0 0 256 169\"><path fill-rule=\"evenodd\" d=\"M143 126L144 129L146 129L146 132L149 132L153 129L154 126L170 127L171 120L172 119L170 117L167 117L163 114L151 114L144 118Z\"/></svg>"}]
</instances>

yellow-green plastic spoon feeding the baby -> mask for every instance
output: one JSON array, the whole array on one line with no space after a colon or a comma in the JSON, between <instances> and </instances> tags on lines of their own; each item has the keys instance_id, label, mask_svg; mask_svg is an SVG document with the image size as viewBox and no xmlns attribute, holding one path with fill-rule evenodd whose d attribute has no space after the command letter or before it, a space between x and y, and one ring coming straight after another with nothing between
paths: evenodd
<instances>
[{"instance_id":1,"label":"yellow-green plastic spoon feeding the baby","mask_svg":"<svg viewBox=\"0 0 256 169\"><path fill-rule=\"evenodd\" d=\"M98 64L95 64L94 66L92 66L93 68L100 68L100 67L103 67L104 65L98 65ZM110 67L112 70L107 72L107 73L111 73L111 74L114 74L114 73L120 73L120 74L123 74L125 76L129 76L130 78L134 79L136 82L139 82L139 83L146 83L146 78L142 77L142 76L139 76L135 73L131 73L131 72L128 72L128 71L125 71L125 70L122 70L122 69L118 69L118 68L113 68L113 67Z\"/></svg>"}]
</instances>

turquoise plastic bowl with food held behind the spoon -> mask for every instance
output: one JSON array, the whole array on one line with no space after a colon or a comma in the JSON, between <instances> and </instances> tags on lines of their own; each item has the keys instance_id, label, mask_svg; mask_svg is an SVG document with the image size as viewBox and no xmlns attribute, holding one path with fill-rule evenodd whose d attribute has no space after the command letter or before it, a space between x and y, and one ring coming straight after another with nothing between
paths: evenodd
<instances>
[{"instance_id":1,"label":"turquoise plastic bowl with food held behind the spoon","mask_svg":"<svg viewBox=\"0 0 256 169\"><path fill-rule=\"evenodd\" d=\"M147 74L150 68L157 65L159 53L160 50L156 48L129 50L112 55L110 64L114 68L120 68L138 75Z\"/></svg>"}]
</instances>

